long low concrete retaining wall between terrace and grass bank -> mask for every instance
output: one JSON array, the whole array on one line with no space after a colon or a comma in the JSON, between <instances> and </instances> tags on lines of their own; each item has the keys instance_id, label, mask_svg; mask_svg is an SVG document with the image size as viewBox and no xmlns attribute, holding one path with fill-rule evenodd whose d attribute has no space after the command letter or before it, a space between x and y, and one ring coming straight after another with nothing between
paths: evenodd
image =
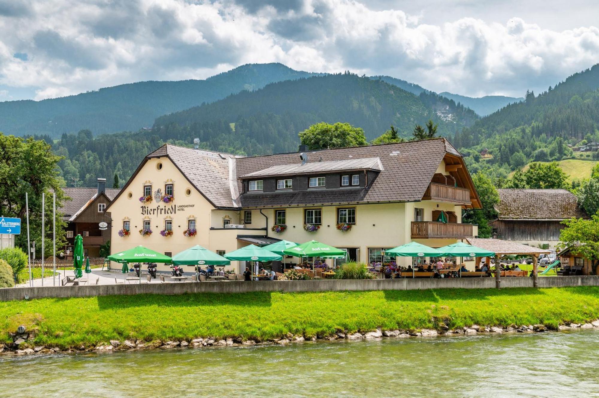
<instances>
[{"instance_id":1,"label":"long low concrete retaining wall between terrace and grass bank","mask_svg":"<svg viewBox=\"0 0 599 398\"><path fill-rule=\"evenodd\" d=\"M539 287L599 286L599 276L539 278ZM109 295L180 295L184 293L334 292L342 290L492 289L495 278L223 281L201 283L108 284L0 289L0 301ZM501 278L501 287L533 287L532 278Z\"/></svg>"}]
</instances>

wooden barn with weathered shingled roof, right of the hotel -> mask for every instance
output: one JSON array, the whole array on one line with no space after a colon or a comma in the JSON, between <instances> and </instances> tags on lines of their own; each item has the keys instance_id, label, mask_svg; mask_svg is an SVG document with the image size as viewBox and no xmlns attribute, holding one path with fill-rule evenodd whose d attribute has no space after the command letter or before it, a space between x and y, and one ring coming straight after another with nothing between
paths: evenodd
<instances>
[{"instance_id":1,"label":"wooden barn with weathered shingled roof, right of the hotel","mask_svg":"<svg viewBox=\"0 0 599 398\"><path fill-rule=\"evenodd\" d=\"M576 196L566 189L497 189L498 217L489 222L493 237L554 248L562 221L585 217Z\"/></svg>"}]
</instances>

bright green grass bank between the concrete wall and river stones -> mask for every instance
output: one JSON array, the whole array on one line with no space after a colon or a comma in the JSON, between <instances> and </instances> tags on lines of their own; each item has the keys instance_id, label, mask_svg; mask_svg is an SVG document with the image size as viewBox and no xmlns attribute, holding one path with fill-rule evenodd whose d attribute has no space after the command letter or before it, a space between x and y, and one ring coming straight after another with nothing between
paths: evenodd
<instances>
[{"instance_id":1,"label":"bright green grass bank between the concrete wall and river stones","mask_svg":"<svg viewBox=\"0 0 599 398\"><path fill-rule=\"evenodd\" d=\"M20 324L35 344L74 347L110 339L278 338L291 332L582 323L599 319L599 287L371 292L135 295L0 302L0 342Z\"/></svg>"}]
</instances>

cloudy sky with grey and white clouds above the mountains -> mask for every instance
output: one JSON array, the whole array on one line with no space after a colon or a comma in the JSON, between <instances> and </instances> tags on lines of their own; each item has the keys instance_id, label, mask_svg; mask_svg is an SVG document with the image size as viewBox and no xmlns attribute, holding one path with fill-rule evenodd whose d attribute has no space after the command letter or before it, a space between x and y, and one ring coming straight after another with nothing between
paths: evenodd
<instances>
[{"instance_id":1,"label":"cloudy sky with grey and white clouds above the mountains","mask_svg":"<svg viewBox=\"0 0 599 398\"><path fill-rule=\"evenodd\" d=\"M522 96L599 62L596 0L0 0L0 101L244 63Z\"/></svg>"}]
</instances>

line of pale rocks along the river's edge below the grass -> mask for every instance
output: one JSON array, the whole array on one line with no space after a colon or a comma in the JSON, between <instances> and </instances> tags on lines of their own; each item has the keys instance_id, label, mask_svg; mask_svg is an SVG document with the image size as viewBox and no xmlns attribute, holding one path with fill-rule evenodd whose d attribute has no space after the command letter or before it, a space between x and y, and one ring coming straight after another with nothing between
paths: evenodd
<instances>
[{"instance_id":1,"label":"line of pale rocks along the river's edge below the grass","mask_svg":"<svg viewBox=\"0 0 599 398\"><path fill-rule=\"evenodd\" d=\"M599 319L588 323L567 323L560 324L557 330L576 330L576 329L599 329ZM521 325L512 324L510 326L480 326L473 324L470 327L461 327L459 329L449 329L440 322L440 329L420 329L420 330L382 330L376 329L369 332L348 332L347 330L338 330L337 333L328 336L302 336L287 333L280 338L261 341L259 339L227 338L217 339L213 337L195 338L181 341L140 341L127 339L125 341L111 340L102 344L86 347L69 347L62 349L53 346L33 345L35 332L29 333L25 327L19 327L16 333L13 333L13 344L0 344L0 353L4 355L28 355L28 354L54 354L54 353L77 353L77 352L110 352L110 351L130 351L130 350L170 350L174 348L202 348L202 347L238 347L243 345L286 345L295 344L304 341L334 341L338 339L362 340L377 338L432 338L437 336L463 336L477 334L498 334L498 333L543 333L551 330L546 325Z\"/></svg>"}]
</instances>

